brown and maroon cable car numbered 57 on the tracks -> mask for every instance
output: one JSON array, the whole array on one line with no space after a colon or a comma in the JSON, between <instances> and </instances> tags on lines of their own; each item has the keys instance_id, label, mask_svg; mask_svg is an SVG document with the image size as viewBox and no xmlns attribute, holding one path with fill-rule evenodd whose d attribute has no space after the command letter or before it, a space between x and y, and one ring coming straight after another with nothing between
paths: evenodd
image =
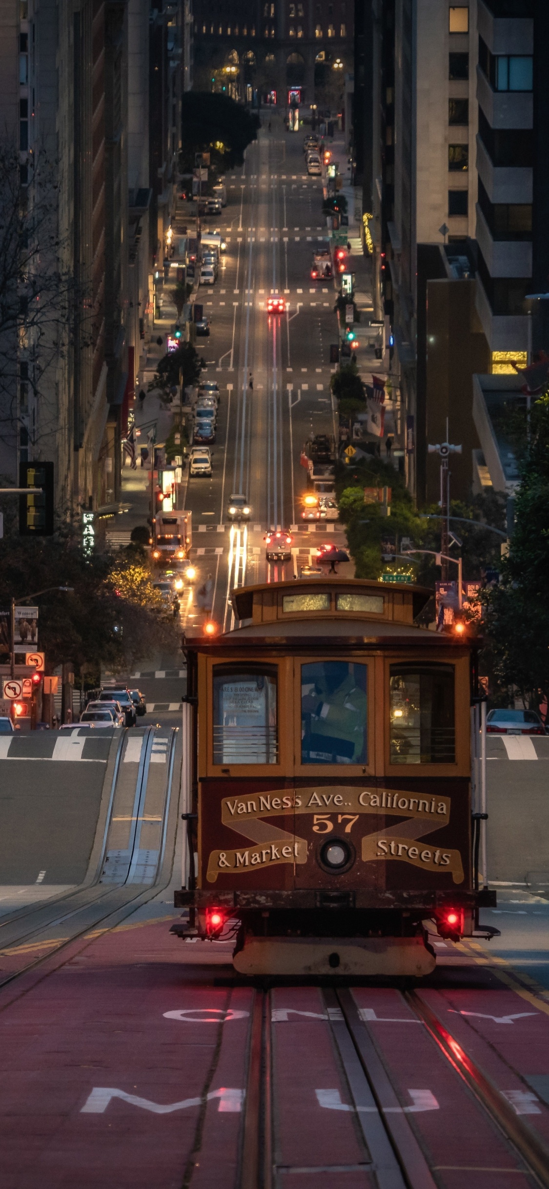
<instances>
[{"instance_id":1,"label":"brown and maroon cable car numbered 57 on the tracks","mask_svg":"<svg viewBox=\"0 0 549 1189\"><path fill-rule=\"evenodd\" d=\"M190 912L172 932L236 920L251 976L423 976L429 932L473 933L496 898L473 887L472 646L417 625L430 594L241 587L233 631L185 642Z\"/></svg>"}]
</instances>

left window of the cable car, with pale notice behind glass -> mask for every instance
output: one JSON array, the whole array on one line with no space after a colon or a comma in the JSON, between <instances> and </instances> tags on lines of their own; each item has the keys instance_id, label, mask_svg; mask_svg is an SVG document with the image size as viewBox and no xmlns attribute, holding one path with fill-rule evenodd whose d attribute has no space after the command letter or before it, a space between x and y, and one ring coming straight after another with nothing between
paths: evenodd
<instances>
[{"instance_id":1,"label":"left window of the cable car, with pale notice behind glass","mask_svg":"<svg viewBox=\"0 0 549 1189\"><path fill-rule=\"evenodd\" d=\"M214 763L278 763L277 667L215 665Z\"/></svg>"}]
</instances>

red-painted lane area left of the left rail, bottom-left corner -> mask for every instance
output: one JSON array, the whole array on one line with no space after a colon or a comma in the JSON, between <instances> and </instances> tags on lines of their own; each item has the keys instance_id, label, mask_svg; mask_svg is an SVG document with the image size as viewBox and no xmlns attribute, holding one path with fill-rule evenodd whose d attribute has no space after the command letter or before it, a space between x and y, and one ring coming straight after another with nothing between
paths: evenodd
<instances>
[{"instance_id":1,"label":"red-painted lane area left of the left rail, bottom-left corner","mask_svg":"<svg viewBox=\"0 0 549 1189\"><path fill-rule=\"evenodd\" d=\"M1 1189L181 1189L190 1163L194 1187L231 1183L252 993L198 977L162 921L0 994Z\"/></svg>"}]
</instances>

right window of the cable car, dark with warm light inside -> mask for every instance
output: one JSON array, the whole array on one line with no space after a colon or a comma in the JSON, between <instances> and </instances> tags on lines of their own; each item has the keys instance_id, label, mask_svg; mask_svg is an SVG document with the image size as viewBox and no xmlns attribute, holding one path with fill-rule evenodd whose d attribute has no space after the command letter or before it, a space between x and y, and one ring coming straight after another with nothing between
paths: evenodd
<instances>
[{"instance_id":1,"label":"right window of the cable car, dark with warm light inside","mask_svg":"<svg viewBox=\"0 0 549 1189\"><path fill-rule=\"evenodd\" d=\"M391 665L390 762L455 762L453 665Z\"/></svg>"}]
</instances>

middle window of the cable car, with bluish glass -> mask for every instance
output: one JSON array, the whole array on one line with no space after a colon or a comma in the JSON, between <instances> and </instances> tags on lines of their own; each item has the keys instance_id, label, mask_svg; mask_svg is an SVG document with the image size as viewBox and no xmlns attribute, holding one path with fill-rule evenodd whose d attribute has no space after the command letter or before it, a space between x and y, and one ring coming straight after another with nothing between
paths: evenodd
<instances>
[{"instance_id":1,"label":"middle window of the cable car, with bluish glass","mask_svg":"<svg viewBox=\"0 0 549 1189\"><path fill-rule=\"evenodd\" d=\"M302 763L367 762L366 678L353 661L302 665Z\"/></svg>"}]
</instances>

